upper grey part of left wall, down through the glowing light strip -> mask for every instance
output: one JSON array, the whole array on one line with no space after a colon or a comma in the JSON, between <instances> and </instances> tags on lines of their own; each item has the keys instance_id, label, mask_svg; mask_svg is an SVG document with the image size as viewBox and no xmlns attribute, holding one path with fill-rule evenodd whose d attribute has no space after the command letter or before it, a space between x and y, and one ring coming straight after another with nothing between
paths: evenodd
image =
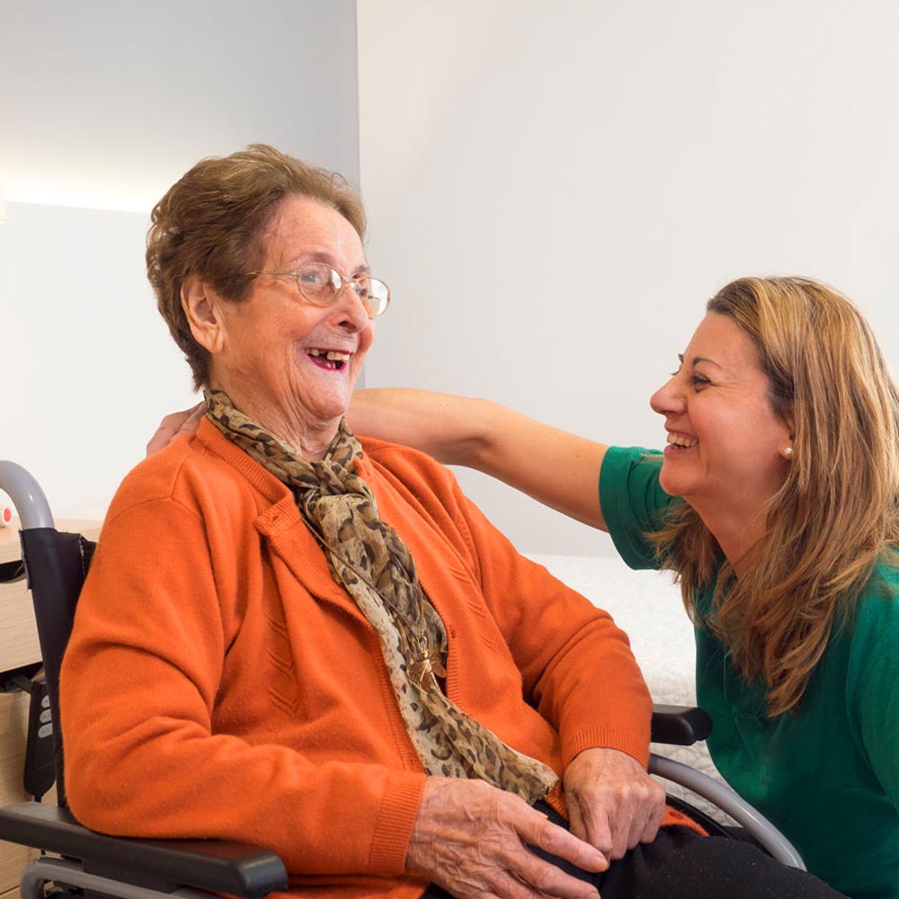
<instances>
[{"instance_id":1,"label":"upper grey part of left wall, down through the glowing light strip","mask_svg":"<svg viewBox=\"0 0 899 899\"><path fill-rule=\"evenodd\" d=\"M273 144L355 179L354 0L0 0L7 200L148 212Z\"/></svg>"}]
</instances>

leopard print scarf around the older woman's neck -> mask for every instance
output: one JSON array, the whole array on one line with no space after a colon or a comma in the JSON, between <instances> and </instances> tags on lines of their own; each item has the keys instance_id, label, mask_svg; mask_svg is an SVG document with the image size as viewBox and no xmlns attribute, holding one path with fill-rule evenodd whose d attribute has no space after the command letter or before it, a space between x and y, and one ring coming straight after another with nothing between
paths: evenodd
<instances>
[{"instance_id":1,"label":"leopard print scarf around the older woman's neck","mask_svg":"<svg viewBox=\"0 0 899 899\"><path fill-rule=\"evenodd\" d=\"M533 805L555 787L555 771L512 747L447 699L446 630L418 582L408 547L378 518L375 498L356 473L362 455L345 421L321 461L309 462L267 433L220 390L207 391L213 424L293 488L299 511L337 583L378 634L406 731L427 774L482 779Z\"/></svg>"}]
</instances>

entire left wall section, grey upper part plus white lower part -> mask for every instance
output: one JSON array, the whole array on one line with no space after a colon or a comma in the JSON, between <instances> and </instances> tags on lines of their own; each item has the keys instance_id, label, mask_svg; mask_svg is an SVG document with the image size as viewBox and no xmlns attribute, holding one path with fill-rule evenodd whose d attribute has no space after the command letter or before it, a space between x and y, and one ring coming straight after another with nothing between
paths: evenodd
<instances>
[{"instance_id":1,"label":"entire left wall section, grey upper part plus white lower part","mask_svg":"<svg viewBox=\"0 0 899 899\"><path fill-rule=\"evenodd\" d=\"M0 458L100 517L194 402L156 314L147 213L254 141L358 174L353 0L0 0Z\"/></svg>"}]
</instances>

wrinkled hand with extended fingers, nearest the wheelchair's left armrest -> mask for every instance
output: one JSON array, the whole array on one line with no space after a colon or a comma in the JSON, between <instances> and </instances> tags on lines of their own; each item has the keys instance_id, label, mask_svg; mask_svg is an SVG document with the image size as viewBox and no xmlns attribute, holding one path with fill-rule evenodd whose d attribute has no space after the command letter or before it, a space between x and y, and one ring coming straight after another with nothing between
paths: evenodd
<instances>
[{"instance_id":1,"label":"wrinkled hand with extended fingers, nearest the wheelchair's left armrest","mask_svg":"<svg viewBox=\"0 0 899 899\"><path fill-rule=\"evenodd\" d=\"M458 899L598 899L592 885L539 859L525 844L587 871L609 867L601 852L547 821L520 797L483 780L436 777L427 779L406 864L410 873Z\"/></svg>"}]
</instances>

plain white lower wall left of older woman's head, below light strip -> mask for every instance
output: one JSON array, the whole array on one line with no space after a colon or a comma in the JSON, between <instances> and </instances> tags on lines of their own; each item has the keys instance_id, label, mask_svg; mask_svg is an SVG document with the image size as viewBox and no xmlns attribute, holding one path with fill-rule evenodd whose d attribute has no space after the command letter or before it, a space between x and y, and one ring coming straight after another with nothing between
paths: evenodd
<instances>
[{"instance_id":1,"label":"plain white lower wall left of older woman's head, below light strip","mask_svg":"<svg viewBox=\"0 0 899 899\"><path fill-rule=\"evenodd\" d=\"M0 457L58 517L102 518L190 374L156 312L139 212L8 204L0 226Z\"/></svg>"}]
</instances>

